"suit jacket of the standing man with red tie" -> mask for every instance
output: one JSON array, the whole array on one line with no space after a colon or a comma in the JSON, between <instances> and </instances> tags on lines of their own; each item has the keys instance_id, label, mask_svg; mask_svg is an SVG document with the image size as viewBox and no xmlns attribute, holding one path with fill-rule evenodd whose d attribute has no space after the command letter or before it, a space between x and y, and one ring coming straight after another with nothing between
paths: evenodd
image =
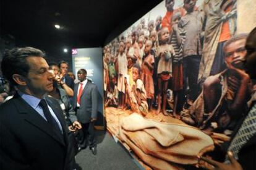
<instances>
[{"instance_id":1,"label":"suit jacket of the standing man with red tie","mask_svg":"<svg viewBox=\"0 0 256 170\"><path fill-rule=\"evenodd\" d=\"M74 87L73 107L77 106L77 93L79 83ZM97 118L98 113L98 88L88 80L83 93L80 98L80 108L77 110L77 119L79 122L85 124L90 122L91 118Z\"/></svg>"}]
</instances>

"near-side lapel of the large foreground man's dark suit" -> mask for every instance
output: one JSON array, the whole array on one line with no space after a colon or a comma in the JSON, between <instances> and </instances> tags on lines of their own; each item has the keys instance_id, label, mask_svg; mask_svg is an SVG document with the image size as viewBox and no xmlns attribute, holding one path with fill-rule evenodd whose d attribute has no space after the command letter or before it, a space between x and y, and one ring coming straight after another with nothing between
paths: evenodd
<instances>
[{"instance_id":1,"label":"near-side lapel of the large foreground man's dark suit","mask_svg":"<svg viewBox=\"0 0 256 170\"><path fill-rule=\"evenodd\" d=\"M56 135L54 135L53 130L49 126L48 122L43 117L41 117L40 114L35 111L35 109L33 109L17 93L14 96L14 98L15 98L14 104L16 108L19 108L17 110L19 111L20 114L23 115L23 118L25 119L25 121L34 125L41 131L45 132L46 134L48 134L54 140L57 140L62 145L65 145L63 142L61 142L61 140L59 140L58 137L56 137Z\"/></svg>"}]
</instances>

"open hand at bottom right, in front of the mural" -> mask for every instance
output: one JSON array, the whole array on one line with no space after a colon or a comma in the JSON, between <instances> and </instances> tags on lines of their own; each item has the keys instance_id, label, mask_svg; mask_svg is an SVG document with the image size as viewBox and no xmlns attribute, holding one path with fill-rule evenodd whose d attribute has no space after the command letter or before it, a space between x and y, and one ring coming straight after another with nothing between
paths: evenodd
<instances>
[{"instance_id":1,"label":"open hand at bottom right, in front of the mural","mask_svg":"<svg viewBox=\"0 0 256 170\"><path fill-rule=\"evenodd\" d=\"M241 164L239 164L236 159L233 157L233 153L231 151L228 152L228 158L231 164L224 164L218 161L214 161L213 159L209 159L201 156L201 163L198 164L201 168L205 169L215 169L215 170L242 170Z\"/></svg>"}]
</instances>

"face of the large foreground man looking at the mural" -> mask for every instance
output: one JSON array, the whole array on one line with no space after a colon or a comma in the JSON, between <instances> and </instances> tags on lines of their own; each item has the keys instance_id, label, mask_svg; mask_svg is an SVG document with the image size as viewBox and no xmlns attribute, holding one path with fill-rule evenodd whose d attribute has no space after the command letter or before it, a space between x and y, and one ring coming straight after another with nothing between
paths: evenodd
<instances>
[{"instance_id":1,"label":"face of the large foreground man looking at the mural","mask_svg":"<svg viewBox=\"0 0 256 170\"><path fill-rule=\"evenodd\" d=\"M41 96L53 90L54 75L49 72L49 66L43 57L27 57L30 70L26 78L30 95Z\"/></svg>"}]
</instances>

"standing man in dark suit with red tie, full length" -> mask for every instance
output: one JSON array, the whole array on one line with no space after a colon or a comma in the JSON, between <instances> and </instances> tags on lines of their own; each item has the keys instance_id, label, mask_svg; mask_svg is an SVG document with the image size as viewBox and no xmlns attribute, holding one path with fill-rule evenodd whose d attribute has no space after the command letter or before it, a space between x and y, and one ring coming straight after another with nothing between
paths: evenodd
<instances>
[{"instance_id":1,"label":"standing man in dark suit with red tie, full length","mask_svg":"<svg viewBox=\"0 0 256 170\"><path fill-rule=\"evenodd\" d=\"M77 119L82 124L79 132L79 147L87 147L87 140L90 150L96 155L96 140L94 124L98 112L98 88L87 79L87 71L80 69L77 72L80 83L75 84L73 106L77 111Z\"/></svg>"}]
</instances>

